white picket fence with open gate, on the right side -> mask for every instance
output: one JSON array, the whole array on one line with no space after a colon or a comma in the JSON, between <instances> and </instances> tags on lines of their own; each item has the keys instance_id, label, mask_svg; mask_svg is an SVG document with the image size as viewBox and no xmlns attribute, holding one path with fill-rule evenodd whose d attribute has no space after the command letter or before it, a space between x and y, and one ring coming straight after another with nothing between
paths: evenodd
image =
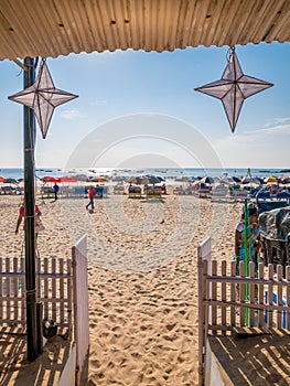
<instances>
[{"instance_id":1,"label":"white picket fence with open gate, on the right side","mask_svg":"<svg viewBox=\"0 0 290 386\"><path fill-rule=\"evenodd\" d=\"M217 264L212 260L211 238L197 249L198 269L198 375L204 384L206 340L211 335L230 334L234 328L267 326L290 330L290 266L258 266L255 277L254 262L245 275L244 261L240 276L236 276L236 261Z\"/></svg>"}]
</instances>

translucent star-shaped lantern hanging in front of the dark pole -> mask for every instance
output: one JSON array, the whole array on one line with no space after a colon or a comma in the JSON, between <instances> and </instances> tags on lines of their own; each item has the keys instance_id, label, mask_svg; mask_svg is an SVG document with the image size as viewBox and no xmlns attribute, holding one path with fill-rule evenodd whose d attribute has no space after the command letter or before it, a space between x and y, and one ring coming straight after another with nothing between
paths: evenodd
<instances>
[{"instance_id":1,"label":"translucent star-shaped lantern hanging in front of the dark pole","mask_svg":"<svg viewBox=\"0 0 290 386\"><path fill-rule=\"evenodd\" d=\"M42 60L35 83L8 99L25 105L34 110L42 137L45 138L54 108L77 98L77 95L55 88L46 61Z\"/></svg>"}]
</instances>

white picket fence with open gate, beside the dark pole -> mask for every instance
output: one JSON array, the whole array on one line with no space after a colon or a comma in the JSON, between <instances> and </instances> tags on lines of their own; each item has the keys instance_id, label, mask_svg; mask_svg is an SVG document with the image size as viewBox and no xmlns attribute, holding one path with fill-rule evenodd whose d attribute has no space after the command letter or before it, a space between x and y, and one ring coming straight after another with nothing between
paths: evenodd
<instances>
[{"instance_id":1,"label":"white picket fence with open gate, beside the dark pole","mask_svg":"<svg viewBox=\"0 0 290 386\"><path fill-rule=\"evenodd\" d=\"M0 257L0 326L25 328L24 258ZM72 248L72 259L36 258L36 301L43 319L68 329L76 342L76 384L85 383L88 371L89 325L86 236Z\"/></svg>"}]
</instances>

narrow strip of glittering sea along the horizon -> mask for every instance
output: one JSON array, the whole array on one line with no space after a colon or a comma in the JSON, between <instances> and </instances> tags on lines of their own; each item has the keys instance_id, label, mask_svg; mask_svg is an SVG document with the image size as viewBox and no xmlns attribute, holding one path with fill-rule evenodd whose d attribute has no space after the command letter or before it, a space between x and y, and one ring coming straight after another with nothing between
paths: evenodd
<instances>
[{"instance_id":1,"label":"narrow strip of glittering sea along the horizon","mask_svg":"<svg viewBox=\"0 0 290 386\"><path fill-rule=\"evenodd\" d=\"M146 175L153 174L162 178L180 178L180 176L223 176L235 175L246 176L248 169L202 169L202 168L184 168L184 169L165 169L165 168L148 168L148 169L114 169L114 168L88 168L88 169L73 169L61 170L57 168L43 168L35 170L36 179L42 179L45 175L61 176L73 174L87 174L87 175L110 175L110 176L132 176L132 175ZM251 176L269 176L269 175L290 175L290 169L250 169ZM24 172L22 168L19 169L0 169L0 175L11 179L23 179Z\"/></svg>"}]
</instances>

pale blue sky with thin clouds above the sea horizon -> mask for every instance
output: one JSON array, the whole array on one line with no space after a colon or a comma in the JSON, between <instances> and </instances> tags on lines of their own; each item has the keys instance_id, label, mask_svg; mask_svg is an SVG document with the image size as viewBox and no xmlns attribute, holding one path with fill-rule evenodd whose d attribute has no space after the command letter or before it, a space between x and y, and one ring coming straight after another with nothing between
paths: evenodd
<instances>
[{"instance_id":1,"label":"pale blue sky with thin clouds above the sea horizon","mask_svg":"<svg viewBox=\"0 0 290 386\"><path fill-rule=\"evenodd\" d=\"M222 103L193 90L221 78L227 50L47 58L55 86L79 97L55 109L45 140L37 127L36 168L78 167L86 147L82 167L289 168L290 43L236 46L243 72L275 86L245 100L235 133ZM0 168L23 165L23 109L7 99L22 88L20 67L0 62Z\"/></svg>"}]
</instances>

